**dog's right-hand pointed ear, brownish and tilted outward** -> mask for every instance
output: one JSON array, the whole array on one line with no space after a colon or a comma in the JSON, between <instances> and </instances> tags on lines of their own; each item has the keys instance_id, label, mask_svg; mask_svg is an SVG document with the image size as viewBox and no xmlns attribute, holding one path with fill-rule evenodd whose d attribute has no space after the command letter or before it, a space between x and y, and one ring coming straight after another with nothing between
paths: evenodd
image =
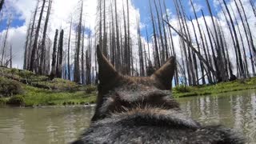
<instances>
[{"instance_id":1,"label":"dog's right-hand pointed ear, brownish and tilted outward","mask_svg":"<svg viewBox=\"0 0 256 144\"><path fill-rule=\"evenodd\" d=\"M170 57L150 78L153 78L164 90L170 90L175 70L176 59L175 57Z\"/></svg>"}]
</instances>

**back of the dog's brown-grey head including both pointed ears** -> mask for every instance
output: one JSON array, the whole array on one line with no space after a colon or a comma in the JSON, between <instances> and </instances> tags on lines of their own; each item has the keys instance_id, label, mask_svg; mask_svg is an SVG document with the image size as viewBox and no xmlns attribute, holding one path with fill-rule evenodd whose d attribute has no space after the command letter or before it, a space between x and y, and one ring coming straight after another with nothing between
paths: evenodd
<instances>
[{"instance_id":1,"label":"back of the dog's brown-grey head including both pointed ears","mask_svg":"<svg viewBox=\"0 0 256 144\"><path fill-rule=\"evenodd\" d=\"M138 78L119 74L97 47L98 99L92 121L106 118L112 113L122 113L137 108L178 108L170 96L171 82L176 69L174 57L150 77Z\"/></svg>"}]
</instances>

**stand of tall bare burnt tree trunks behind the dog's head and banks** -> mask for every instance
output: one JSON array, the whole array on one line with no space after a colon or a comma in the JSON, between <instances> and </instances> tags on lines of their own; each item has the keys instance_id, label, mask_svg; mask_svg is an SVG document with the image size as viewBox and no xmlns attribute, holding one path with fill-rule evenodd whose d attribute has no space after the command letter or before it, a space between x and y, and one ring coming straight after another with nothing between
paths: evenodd
<instances>
[{"instance_id":1,"label":"stand of tall bare burnt tree trunks behind the dog's head and banks","mask_svg":"<svg viewBox=\"0 0 256 144\"><path fill-rule=\"evenodd\" d=\"M256 18L254 2L248 1L250 12ZM98 0L96 26L91 26L94 29L91 30L85 25L87 3L80 0L70 15L70 26L56 27L51 38L49 23L54 0L37 0L27 26L26 42L20 44L24 51L23 70L50 79L97 85L95 52L98 45L118 72L130 76L149 76L170 56L175 56L178 66L174 86L254 77L256 48L252 30L255 23L248 20L244 1L214 1L218 2L226 23L220 22L221 16L209 0L204 1L206 10L196 10L193 0L187 1L192 7L191 13L185 10L184 2L173 0L175 14L172 14L165 0L148 0L149 23L143 28L139 17L130 17L130 6L133 6L130 0ZM0 25L4 18L7 24L1 33L0 64L12 68L12 45L7 39L13 19L4 9L5 0L1 0ZM135 26L135 32L131 26ZM178 39L174 38L177 36Z\"/></svg>"}]
</instances>

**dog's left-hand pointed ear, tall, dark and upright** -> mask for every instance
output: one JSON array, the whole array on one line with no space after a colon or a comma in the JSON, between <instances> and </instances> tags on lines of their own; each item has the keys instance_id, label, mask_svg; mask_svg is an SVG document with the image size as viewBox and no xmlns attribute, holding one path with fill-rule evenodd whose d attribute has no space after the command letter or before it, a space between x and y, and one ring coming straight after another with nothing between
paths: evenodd
<instances>
[{"instance_id":1,"label":"dog's left-hand pointed ear, tall, dark and upright","mask_svg":"<svg viewBox=\"0 0 256 144\"><path fill-rule=\"evenodd\" d=\"M114 66L107 60L102 54L99 46L97 46L97 57L98 57L98 80L101 85L112 82L119 76Z\"/></svg>"}]
</instances>

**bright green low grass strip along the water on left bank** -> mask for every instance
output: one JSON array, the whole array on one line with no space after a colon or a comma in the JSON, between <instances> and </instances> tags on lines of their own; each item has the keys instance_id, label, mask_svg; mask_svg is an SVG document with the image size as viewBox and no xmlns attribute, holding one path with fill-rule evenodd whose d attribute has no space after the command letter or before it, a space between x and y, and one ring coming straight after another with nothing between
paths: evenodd
<instances>
[{"instance_id":1,"label":"bright green low grass strip along the water on left bank","mask_svg":"<svg viewBox=\"0 0 256 144\"><path fill-rule=\"evenodd\" d=\"M96 90L45 90L22 84L22 94L0 98L0 103L14 106L83 105L96 101Z\"/></svg>"}]
</instances>

